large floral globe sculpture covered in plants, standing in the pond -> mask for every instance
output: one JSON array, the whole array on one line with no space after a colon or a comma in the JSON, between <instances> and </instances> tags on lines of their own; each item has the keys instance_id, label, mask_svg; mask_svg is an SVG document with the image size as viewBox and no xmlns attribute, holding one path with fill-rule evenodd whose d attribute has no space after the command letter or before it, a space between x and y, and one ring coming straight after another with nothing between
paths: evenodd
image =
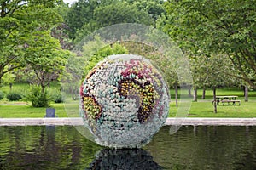
<instances>
[{"instance_id":1,"label":"large floral globe sculpture covered in plants, standing in the pond","mask_svg":"<svg viewBox=\"0 0 256 170\"><path fill-rule=\"evenodd\" d=\"M89 72L79 99L84 126L97 144L139 148L166 122L170 98L164 78L148 59L119 54Z\"/></svg>"}]
</instances>

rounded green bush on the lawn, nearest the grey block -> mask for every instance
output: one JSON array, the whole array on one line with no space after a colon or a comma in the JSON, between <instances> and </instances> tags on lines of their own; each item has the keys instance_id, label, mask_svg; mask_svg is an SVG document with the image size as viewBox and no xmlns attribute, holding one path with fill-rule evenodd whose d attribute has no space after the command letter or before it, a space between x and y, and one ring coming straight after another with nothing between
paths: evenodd
<instances>
[{"instance_id":1,"label":"rounded green bush on the lawn, nearest the grey block","mask_svg":"<svg viewBox=\"0 0 256 170\"><path fill-rule=\"evenodd\" d=\"M26 96L26 100L31 101L33 107L48 107L51 98L46 91L42 93L41 87L32 86L30 92Z\"/></svg>"}]
</instances>

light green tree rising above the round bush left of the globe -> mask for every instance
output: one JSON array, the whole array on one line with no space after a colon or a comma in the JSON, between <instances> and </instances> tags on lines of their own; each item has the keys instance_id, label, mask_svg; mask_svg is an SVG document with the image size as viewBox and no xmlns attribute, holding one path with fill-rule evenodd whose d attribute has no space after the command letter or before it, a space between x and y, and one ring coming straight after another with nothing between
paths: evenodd
<instances>
[{"instance_id":1,"label":"light green tree rising above the round bush left of the globe","mask_svg":"<svg viewBox=\"0 0 256 170\"><path fill-rule=\"evenodd\" d=\"M34 31L27 39L26 64L35 73L34 81L41 86L42 93L49 82L61 77L68 55L58 40L50 36L50 31Z\"/></svg>"}]
</instances>

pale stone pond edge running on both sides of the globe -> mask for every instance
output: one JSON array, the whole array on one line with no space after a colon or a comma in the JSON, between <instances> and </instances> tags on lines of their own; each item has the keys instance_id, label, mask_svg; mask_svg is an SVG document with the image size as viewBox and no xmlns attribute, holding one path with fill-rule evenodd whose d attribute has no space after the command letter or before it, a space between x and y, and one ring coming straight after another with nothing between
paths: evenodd
<instances>
[{"instance_id":1,"label":"pale stone pond edge running on both sides of the globe","mask_svg":"<svg viewBox=\"0 0 256 170\"><path fill-rule=\"evenodd\" d=\"M80 117L0 118L1 126L81 126ZM185 126L256 126L256 118L166 118L165 125Z\"/></svg>"}]
</instances>

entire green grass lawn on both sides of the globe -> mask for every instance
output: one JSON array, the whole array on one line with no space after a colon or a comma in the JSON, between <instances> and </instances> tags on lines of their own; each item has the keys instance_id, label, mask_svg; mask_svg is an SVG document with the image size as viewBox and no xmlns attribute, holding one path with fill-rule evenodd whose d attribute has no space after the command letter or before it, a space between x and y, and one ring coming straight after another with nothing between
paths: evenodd
<instances>
[{"instance_id":1,"label":"entire green grass lawn on both sides of the globe","mask_svg":"<svg viewBox=\"0 0 256 170\"><path fill-rule=\"evenodd\" d=\"M18 87L14 86L14 89L19 91L26 90L26 86L21 84ZM0 90L6 93L9 90L9 87L3 87L0 88ZM218 105L218 113L216 114L213 113L212 90L206 91L206 99L201 99L201 94L202 90L198 90L198 102L191 102L189 117L256 117L256 91L250 91L249 102L244 102L243 92L241 89L218 89L217 95L239 96L238 99L241 100L241 105ZM177 107L175 106L174 99L174 90L171 90L171 97L172 102L170 105L171 108L169 116L174 117L177 113ZM66 110L64 104L51 104L50 107L56 109L55 113L59 117L79 116L78 101L69 101L68 104L66 104ZM44 117L44 115L45 108L33 108L31 105L26 105L26 102L9 102L7 99L0 101L0 118Z\"/></svg>"}]
</instances>

